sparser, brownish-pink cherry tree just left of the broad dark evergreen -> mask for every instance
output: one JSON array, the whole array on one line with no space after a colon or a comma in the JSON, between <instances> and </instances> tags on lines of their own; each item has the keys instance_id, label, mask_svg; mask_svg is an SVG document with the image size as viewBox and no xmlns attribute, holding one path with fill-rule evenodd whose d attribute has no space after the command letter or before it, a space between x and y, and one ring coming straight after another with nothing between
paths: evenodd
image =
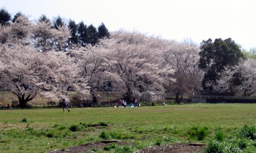
<instances>
[{"instance_id":1,"label":"sparser, brownish-pink cherry tree just left of the broad dark evergreen","mask_svg":"<svg viewBox=\"0 0 256 153\"><path fill-rule=\"evenodd\" d=\"M203 72L198 68L199 47L192 41L176 42L164 53L165 62L174 70L171 75L170 91L176 94L176 103L180 103L185 92L196 92L201 86ZM179 99L179 96L181 99Z\"/></svg>"}]
</instances>

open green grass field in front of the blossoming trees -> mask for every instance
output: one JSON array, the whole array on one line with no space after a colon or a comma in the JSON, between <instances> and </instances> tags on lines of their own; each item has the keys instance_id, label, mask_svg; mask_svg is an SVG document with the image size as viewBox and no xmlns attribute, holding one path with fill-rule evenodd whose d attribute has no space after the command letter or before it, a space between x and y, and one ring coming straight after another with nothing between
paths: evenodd
<instances>
[{"instance_id":1,"label":"open green grass field in front of the blossoming trees","mask_svg":"<svg viewBox=\"0 0 256 153\"><path fill-rule=\"evenodd\" d=\"M256 104L71 108L69 113L55 108L2 109L0 116L0 151L6 153L47 152L103 139L131 142L123 152L177 142L230 150L237 144L238 152L256 152L254 137L241 136L247 125L256 125ZM253 134L256 137L255 128ZM95 151L103 152L103 148ZM113 148L110 152L122 151Z\"/></svg>"}]
</instances>

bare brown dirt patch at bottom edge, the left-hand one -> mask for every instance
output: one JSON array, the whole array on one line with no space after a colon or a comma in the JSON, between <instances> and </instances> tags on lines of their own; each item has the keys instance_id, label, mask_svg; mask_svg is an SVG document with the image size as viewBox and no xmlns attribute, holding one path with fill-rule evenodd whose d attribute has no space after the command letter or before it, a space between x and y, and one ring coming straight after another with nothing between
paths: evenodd
<instances>
[{"instance_id":1,"label":"bare brown dirt patch at bottom edge, the left-hand one","mask_svg":"<svg viewBox=\"0 0 256 153\"><path fill-rule=\"evenodd\" d=\"M112 143L116 143L117 145L130 145L129 142L123 141L99 141L94 142L92 144L80 144L78 146L73 146L70 148L66 148L63 150L54 150L48 153L84 153L87 151L92 151L92 148L103 148L104 146L109 146Z\"/></svg>"}]
</instances>

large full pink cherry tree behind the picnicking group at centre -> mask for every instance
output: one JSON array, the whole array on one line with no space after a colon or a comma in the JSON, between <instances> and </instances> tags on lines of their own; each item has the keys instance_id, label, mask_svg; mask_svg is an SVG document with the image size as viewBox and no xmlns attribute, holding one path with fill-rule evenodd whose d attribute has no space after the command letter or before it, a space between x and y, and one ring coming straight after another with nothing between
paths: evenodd
<instances>
[{"instance_id":1,"label":"large full pink cherry tree behind the picnicking group at centre","mask_svg":"<svg viewBox=\"0 0 256 153\"><path fill-rule=\"evenodd\" d=\"M163 84L171 78L164 76L173 72L162 58L168 44L166 40L119 30L100 43L108 51L108 71L114 73L113 78L117 80L112 83L113 87L121 91L127 101L133 97L155 99L165 92Z\"/></svg>"}]
</instances>

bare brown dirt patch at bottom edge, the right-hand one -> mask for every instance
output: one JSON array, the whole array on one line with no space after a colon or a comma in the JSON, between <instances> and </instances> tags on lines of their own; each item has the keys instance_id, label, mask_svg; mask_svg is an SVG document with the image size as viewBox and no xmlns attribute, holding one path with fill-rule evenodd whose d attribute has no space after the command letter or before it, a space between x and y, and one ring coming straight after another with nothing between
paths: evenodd
<instances>
[{"instance_id":1,"label":"bare brown dirt patch at bottom edge, the right-hand one","mask_svg":"<svg viewBox=\"0 0 256 153\"><path fill-rule=\"evenodd\" d=\"M136 153L201 153L205 149L205 144L180 143L160 146L150 146Z\"/></svg>"}]
</instances>

